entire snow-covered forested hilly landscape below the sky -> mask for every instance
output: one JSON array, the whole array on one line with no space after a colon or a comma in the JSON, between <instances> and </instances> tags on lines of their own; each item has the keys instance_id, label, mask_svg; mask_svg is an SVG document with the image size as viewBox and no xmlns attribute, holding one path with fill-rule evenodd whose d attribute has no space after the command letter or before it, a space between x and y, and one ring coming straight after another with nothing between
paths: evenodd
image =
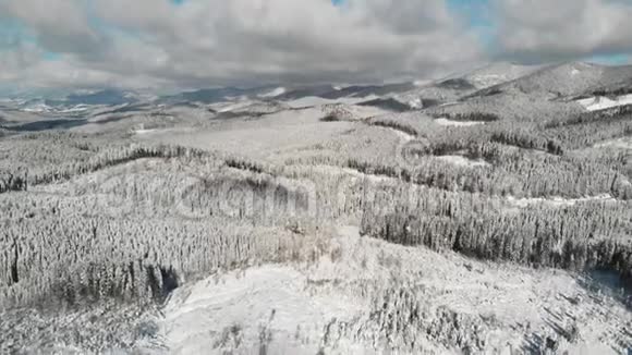
<instances>
[{"instance_id":1,"label":"entire snow-covered forested hilly landscape below the sky","mask_svg":"<svg viewBox=\"0 0 632 355\"><path fill-rule=\"evenodd\" d=\"M1 101L0 353L624 353L632 69L524 72Z\"/></svg>"}]
</instances>

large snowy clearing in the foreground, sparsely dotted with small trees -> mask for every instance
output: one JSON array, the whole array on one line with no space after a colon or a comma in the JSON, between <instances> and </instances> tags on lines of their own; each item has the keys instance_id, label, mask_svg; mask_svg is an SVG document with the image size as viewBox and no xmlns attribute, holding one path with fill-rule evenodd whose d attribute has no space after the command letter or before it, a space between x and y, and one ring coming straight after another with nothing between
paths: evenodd
<instances>
[{"instance_id":1,"label":"large snowy clearing in the foreground, sparsely dotted with small trees","mask_svg":"<svg viewBox=\"0 0 632 355\"><path fill-rule=\"evenodd\" d=\"M178 289L159 327L171 354L452 354L481 344L486 354L513 354L547 341L560 354L616 354L632 317L608 292L584 286L591 282L341 227L319 260ZM560 335L573 329L575 344Z\"/></svg>"}]
</instances>

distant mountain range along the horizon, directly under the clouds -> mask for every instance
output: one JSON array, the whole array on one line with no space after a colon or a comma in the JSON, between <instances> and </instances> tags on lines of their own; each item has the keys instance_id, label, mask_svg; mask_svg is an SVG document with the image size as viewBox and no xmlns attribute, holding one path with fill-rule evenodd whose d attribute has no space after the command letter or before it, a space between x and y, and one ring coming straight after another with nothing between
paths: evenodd
<instances>
[{"instance_id":1,"label":"distant mountain range along the horizon, directly under the clouds","mask_svg":"<svg viewBox=\"0 0 632 355\"><path fill-rule=\"evenodd\" d=\"M485 97L500 93L537 95L548 98L632 93L632 66L605 66L572 62L555 65L494 63L424 84L404 82L382 85L266 85L254 88L218 87L182 91L169 96L147 96L134 90L106 88L73 93L62 99L14 99L36 112L71 110L82 106L121 106L137 102L157 105L212 105L235 100L291 101L305 97L327 100L366 98L367 105L402 110Z\"/></svg>"}]
</instances>

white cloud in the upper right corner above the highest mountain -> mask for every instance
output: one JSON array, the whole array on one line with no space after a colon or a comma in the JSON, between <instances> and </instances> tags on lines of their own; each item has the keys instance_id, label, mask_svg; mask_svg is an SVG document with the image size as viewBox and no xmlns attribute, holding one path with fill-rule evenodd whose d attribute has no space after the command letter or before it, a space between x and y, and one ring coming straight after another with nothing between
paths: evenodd
<instances>
[{"instance_id":1,"label":"white cloud in the upper right corner above the highest mountain","mask_svg":"<svg viewBox=\"0 0 632 355\"><path fill-rule=\"evenodd\" d=\"M495 0L500 51L513 58L566 60L632 52L632 2Z\"/></svg>"}]
</instances>

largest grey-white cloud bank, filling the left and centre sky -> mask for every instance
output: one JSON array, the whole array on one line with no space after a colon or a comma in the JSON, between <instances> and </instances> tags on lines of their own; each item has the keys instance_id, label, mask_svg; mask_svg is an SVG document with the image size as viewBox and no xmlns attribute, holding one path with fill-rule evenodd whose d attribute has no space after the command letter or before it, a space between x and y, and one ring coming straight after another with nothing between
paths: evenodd
<instances>
[{"instance_id":1,"label":"largest grey-white cloud bank, filling the left and centre sky","mask_svg":"<svg viewBox=\"0 0 632 355\"><path fill-rule=\"evenodd\" d=\"M481 58L445 0L21 0L0 12L63 53L15 69L39 85L362 82Z\"/></svg>"}]
</instances>

